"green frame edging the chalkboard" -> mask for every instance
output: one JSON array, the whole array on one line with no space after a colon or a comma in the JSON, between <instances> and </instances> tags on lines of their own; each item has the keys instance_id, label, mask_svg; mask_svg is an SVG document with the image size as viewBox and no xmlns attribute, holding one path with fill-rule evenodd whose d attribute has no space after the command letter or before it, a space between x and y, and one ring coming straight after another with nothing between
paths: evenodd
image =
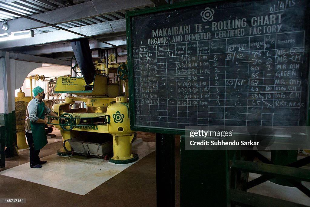
<instances>
[{"instance_id":1,"label":"green frame edging the chalkboard","mask_svg":"<svg viewBox=\"0 0 310 207\"><path fill-rule=\"evenodd\" d=\"M223 2L227 0L204 0L204 1L189 1L189 2L180 2L174 3L171 5L164 5L160 7L153 7L148 9L143 9L139 11L131 11L126 13L126 37L127 37L127 57L128 57L128 84L129 84L129 106L130 106L130 127L132 130L136 131L146 131L146 132L155 132L155 133L165 133L165 134L180 134L185 135L185 130L180 129L169 129L162 127L149 127L149 126L135 126L135 96L134 96L134 75L133 75L133 59L132 59L132 32L131 32L131 18L144 14L156 13L159 11L168 11L172 9L190 7L205 3L212 2Z\"/></svg>"}]
</instances>

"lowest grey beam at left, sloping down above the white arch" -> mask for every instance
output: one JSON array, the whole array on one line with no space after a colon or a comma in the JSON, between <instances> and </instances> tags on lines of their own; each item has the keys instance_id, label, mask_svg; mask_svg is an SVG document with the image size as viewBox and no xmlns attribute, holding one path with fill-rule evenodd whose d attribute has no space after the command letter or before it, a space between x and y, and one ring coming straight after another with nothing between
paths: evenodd
<instances>
[{"instance_id":1,"label":"lowest grey beam at left, sloping down above the white arch","mask_svg":"<svg viewBox=\"0 0 310 207\"><path fill-rule=\"evenodd\" d=\"M5 57L5 51L0 51L0 57ZM49 63L54 65L71 65L70 61L67 60L59 60L59 59L53 59L53 58L46 58L46 57L40 57L35 55L26 55L21 53L15 53L10 52L9 53L10 59L15 60L23 60L23 61L29 61L29 62L35 62L35 63Z\"/></svg>"}]
</instances>

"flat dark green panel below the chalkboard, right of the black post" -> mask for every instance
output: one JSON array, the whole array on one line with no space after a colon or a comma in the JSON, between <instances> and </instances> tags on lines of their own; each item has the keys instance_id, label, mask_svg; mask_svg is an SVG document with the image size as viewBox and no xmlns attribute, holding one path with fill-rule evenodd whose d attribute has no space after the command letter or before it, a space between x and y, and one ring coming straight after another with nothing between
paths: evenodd
<instances>
[{"instance_id":1,"label":"flat dark green panel below the chalkboard, right of the black post","mask_svg":"<svg viewBox=\"0 0 310 207\"><path fill-rule=\"evenodd\" d=\"M185 150L180 142L180 203L182 206L228 206L227 150Z\"/></svg>"}]
</instances>

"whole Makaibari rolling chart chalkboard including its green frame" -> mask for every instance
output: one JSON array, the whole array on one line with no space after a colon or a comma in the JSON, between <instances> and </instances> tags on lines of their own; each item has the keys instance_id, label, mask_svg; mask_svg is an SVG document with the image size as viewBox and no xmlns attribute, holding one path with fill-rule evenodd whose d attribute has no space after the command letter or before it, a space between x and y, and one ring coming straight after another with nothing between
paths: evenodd
<instances>
[{"instance_id":1,"label":"whole Makaibari rolling chart chalkboard including its green frame","mask_svg":"<svg viewBox=\"0 0 310 207\"><path fill-rule=\"evenodd\" d=\"M190 2L126 16L131 127L308 125L309 2Z\"/></svg>"}]
</instances>

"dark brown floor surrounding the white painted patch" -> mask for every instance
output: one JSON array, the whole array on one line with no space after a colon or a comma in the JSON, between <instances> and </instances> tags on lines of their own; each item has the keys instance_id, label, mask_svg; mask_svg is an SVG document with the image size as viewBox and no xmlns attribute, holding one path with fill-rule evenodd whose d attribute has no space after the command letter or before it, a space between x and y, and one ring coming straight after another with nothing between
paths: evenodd
<instances>
[{"instance_id":1,"label":"dark brown floor surrounding the white painted patch","mask_svg":"<svg viewBox=\"0 0 310 207\"><path fill-rule=\"evenodd\" d=\"M51 143L41 150L39 155L43 158L41 160L51 161L50 157L55 155L57 149L62 146L60 132L56 129L52 134L55 134L56 137L52 138L54 140L50 139ZM155 142L155 134L153 133L140 132L137 138L142 138L144 142ZM179 137L176 138L175 144L176 206L179 206L179 170L177 170L179 168ZM57 158L55 157L55 159ZM85 158L82 157L81 159ZM96 158L90 159L102 161ZM25 163L29 163L29 150L20 151L19 156L6 158L6 167L1 168L0 171L2 172L0 173ZM47 166L47 164L45 165ZM44 169L44 167L43 165L40 169L29 168L29 170L35 172ZM17 168L15 169L17 170ZM72 177L72 180L74 179ZM0 198L24 198L26 203L19 204L22 206L156 206L155 152L151 152L85 195L0 174ZM12 205L19 206L17 204ZM7 204L0 204L0 206L7 206Z\"/></svg>"}]
</instances>

